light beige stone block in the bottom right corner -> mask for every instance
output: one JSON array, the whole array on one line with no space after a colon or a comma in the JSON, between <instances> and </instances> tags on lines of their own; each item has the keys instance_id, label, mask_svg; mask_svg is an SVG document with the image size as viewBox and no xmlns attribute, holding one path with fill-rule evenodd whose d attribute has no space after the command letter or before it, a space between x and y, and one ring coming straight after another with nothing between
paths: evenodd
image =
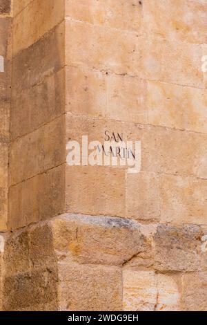
<instances>
[{"instance_id":1,"label":"light beige stone block in the bottom right corner","mask_svg":"<svg viewBox=\"0 0 207 325\"><path fill-rule=\"evenodd\" d=\"M207 310L206 272L183 275L183 310Z\"/></svg>"}]
</instances>

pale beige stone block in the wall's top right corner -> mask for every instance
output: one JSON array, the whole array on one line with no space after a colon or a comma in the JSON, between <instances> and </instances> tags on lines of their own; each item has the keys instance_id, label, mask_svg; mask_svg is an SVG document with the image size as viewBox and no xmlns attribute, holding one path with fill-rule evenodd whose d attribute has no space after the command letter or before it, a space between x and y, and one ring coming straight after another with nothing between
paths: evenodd
<instances>
[{"instance_id":1,"label":"pale beige stone block in the wall's top right corner","mask_svg":"<svg viewBox=\"0 0 207 325\"><path fill-rule=\"evenodd\" d=\"M173 41L206 43L206 1L146 0L143 5L144 27L148 34L153 32Z\"/></svg>"}]
</instances>

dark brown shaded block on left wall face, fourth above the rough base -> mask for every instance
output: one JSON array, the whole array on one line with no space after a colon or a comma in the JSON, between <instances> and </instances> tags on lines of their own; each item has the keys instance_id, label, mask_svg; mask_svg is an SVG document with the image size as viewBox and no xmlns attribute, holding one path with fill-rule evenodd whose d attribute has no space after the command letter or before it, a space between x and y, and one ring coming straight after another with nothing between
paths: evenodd
<instances>
[{"instance_id":1,"label":"dark brown shaded block on left wall face, fourth above the rough base","mask_svg":"<svg viewBox=\"0 0 207 325\"><path fill-rule=\"evenodd\" d=\"M55 26L44 37L13 57L12 92L41 84L65 63L65 23Z\"/></svg>"}]
</instances>

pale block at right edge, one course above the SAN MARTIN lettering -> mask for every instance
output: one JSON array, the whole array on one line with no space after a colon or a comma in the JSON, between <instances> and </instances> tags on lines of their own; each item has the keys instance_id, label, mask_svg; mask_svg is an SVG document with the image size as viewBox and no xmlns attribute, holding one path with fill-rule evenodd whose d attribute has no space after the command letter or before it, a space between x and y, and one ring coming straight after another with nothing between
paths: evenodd
<instances>
[{"instance_id":1,"label":"pale block at right edge, one course above the SAN MARTIN lettering","mask_svg":"<svg viewBox=\"0 0 207 325\"><path fill-rule=\"evenodd\" d=\"M204 89L148 82L148 121L175 129L206 132L207 92Z\"/></svg>"}]
</instances>

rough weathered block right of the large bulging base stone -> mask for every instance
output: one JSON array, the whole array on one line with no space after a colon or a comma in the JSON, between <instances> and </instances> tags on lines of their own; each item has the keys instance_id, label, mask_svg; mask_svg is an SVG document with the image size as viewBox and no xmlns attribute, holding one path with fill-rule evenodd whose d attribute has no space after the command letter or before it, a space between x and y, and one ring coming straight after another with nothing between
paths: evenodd
<instances>
[{"instance_id":1,"label":"rough weathered block right of the large bulging base stone","mask_svg":"<svg viewBox=\"0 0 207 325\"><path fill-rule=\"evenodd\" d=\"M155 268L160 271L199 269L199 251L203 232L197 225L177 228L158 225L155 234Z\"/></svg>"}]
</instances>

